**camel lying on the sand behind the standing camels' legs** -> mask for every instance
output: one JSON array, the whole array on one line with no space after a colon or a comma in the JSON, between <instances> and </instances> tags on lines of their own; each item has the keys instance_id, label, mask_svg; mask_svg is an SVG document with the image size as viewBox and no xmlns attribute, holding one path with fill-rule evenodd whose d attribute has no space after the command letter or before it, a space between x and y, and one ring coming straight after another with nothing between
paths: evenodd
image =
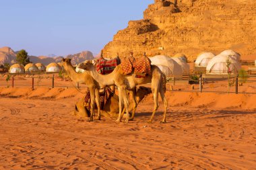
<instances>
[{"instance_id":1,"label":"camel lying on the sand behind the standing camels' legs","mask_svg":"<svg viewBox=\"0 0 256 170\"><path fill-rule=\"evenodd\" d=\"M139 87L136 91L136 100L139 103L146 95L152 93L148 87ZM75 116L84 117L84 112L90 115L90 111L85 107L88 103L85 103L84 97L75 103L75 110L73 114ZM129 105L129 112L133 111L133 106ZM123 112L124 113L124 112ZM118 95L111 96L104 105L104 109L101 110L101 115L110 118L117 118L119 115L119 97Z\"/></svg>"}]
</instances>

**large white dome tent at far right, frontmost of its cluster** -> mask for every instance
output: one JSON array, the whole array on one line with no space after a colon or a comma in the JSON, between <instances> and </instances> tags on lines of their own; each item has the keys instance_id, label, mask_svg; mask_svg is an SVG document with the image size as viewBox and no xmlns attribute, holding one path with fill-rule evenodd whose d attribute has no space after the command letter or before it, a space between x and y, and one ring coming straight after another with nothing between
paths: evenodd
<instances>
[{"instance_id":1,"label":"large white dome tent at far right, frontmost of its cluster","mask_svg":"<svg viewBox=\"0 0 256 170\"><path fill-rule=\"evenodd\" d=\"M241 69L241 64L238 60L230 56L219 54L214 56L206 67L206 73L210 74L228 74L227 60L230 61L230 73L238 73Z\"/></svg>"}]
</instances>

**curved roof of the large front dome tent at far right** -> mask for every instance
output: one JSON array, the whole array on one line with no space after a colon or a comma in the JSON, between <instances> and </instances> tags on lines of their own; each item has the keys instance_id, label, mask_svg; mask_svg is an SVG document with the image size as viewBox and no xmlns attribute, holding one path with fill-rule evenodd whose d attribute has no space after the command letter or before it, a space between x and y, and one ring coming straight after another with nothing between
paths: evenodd
<instances>
[{"instance_id":1,"label":"curved roof of the large front dome tent at far right","mask_svg":"<svg viewBox=\"0 0 256 170\"><path fill-rule=\"evenodd\" d=\"M217 56L214 56L214 58L212 58L209 62L208 65L206 67L206 71L210 72L210 70L212 69L212 67L218 63L218 62L226 62L227 58L230 60L231 64L234 65L234 67L236 68L237 71L239 71L241 69L241 63L238 62L238 60L235 60L234 58L230 57L230 56L225 56L222 54L218 54Z\"/></svg>"}]
</instances>

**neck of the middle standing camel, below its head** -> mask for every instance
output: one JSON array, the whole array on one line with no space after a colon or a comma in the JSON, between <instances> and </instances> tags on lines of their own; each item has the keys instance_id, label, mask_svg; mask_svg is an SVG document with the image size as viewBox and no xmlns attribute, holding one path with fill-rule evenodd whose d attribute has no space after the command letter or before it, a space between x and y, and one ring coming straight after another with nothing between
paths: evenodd
<instances>
[{"instance_id":1,"label":"neck of the middle standing camel, below its head","mask_svg":"<svg viewBox=\"0 0 256 170\"><path fill-rule=\"evenodd\" d=\"M116 70L117 67L112 73L108 75L101 75L100 73L98 73L98 71L96 71L95 67L93 67L90 71L90 75L92 75L92 77L100 84L100 86L115 85Z\"/></svg>"}]
</instances>

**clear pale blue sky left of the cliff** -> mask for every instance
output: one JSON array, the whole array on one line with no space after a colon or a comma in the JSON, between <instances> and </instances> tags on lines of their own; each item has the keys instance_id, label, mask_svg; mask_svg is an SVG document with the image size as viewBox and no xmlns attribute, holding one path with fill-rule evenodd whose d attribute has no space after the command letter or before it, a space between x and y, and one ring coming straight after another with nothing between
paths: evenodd
<instances>
[{"instance_id":1,"label":"clear pale blue sky left of the cliff","mask_svg":"<svg viewBox=\"0 0 256 170\"><path fill-rule=\"evenodd\" d=\"M98 53L154 0L0 0L0 47L30 55Z\"/></svg>"}]
</instances>

